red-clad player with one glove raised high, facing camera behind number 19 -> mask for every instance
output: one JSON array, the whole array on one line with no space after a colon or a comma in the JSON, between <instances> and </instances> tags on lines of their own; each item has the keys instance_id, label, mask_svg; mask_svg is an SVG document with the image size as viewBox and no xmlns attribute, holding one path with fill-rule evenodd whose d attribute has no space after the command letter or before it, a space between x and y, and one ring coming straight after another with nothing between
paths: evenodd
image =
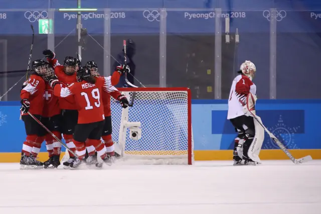
<instances>
[{"instance_id":1,"label":"red-clad player with one glove raised high, facing camera behind number 19","mask_svg":"<svg viewBox=\"0 0 321 214\"><path fill-rule=\"evenodd\" d=\"M73 57L67 56L64 60L64 64L60 65L56 59L56 54L51 50L44 50L43 54L47 57L48 62L55 68L55 74L58 77L62 87L68 87L70 84L77 81L76 78L76 66L77 62ZM73 133L78 120L77 104L75 103L74 97L59 97L59 106L62 110L61 125L63 137L66 141L67 146L76 152L76 147L73 142ZM64 162L64 166L68 166L69 162L74 157L69 152L70 159Z\"/></svg>"}]
</instances>

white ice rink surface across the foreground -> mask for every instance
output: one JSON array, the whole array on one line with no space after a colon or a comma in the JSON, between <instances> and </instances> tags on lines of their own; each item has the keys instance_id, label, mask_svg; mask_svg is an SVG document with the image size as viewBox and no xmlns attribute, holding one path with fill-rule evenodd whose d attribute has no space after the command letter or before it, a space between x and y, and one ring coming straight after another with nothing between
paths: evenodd
<instances>
[{"instance_id":1,"label":"white ice rink surface across the foreground","mask_svg":"<svg viewBox=\"0 0 321 214\"><path fill-rule=\"evenodd\" d=\"M320 214L321 160L20 170L0 164L0 213Z\"/></svg>"}]
</instances>

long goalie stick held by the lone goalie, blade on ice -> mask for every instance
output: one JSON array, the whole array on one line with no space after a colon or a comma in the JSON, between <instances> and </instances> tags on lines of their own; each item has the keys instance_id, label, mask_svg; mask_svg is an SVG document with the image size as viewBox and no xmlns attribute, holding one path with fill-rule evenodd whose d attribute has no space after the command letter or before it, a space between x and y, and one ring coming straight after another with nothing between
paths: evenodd
<instances>
[{"instance_id":1,"label":"long goalie stick held by the lone goalie, blade on ice","mask_svg":"<svg viewBox=\"0 0 321 214\"><path fill-rule=\"evenodd\" d=\"M249 93L249 95L252 96L251 93ZM248 95L248 96L249 96ZM253 96L251 97L253 99ZM254 99L253 99L254 100ZM265 130L265 132L270 136L270 138L278 145L278 147L287 155L287 157L289 157L291 159L291 161L294 164L301 164L301 163L305 163L308 162L310 160L312 160L312 157L310 155L307 155L303 158L299 158L299 159L295 159L292 154L285 148L285 146L263 125L263 123L260 122L260 120L256 117L256 115L254 115L251 111L254 110L254 108L249 108L248 105L248 101L246 103L247 109L248 111L252 114L252 117L263 127L263 129ZM250 111L251 110L251 111Z\"/></svg>"}]
</instances>

